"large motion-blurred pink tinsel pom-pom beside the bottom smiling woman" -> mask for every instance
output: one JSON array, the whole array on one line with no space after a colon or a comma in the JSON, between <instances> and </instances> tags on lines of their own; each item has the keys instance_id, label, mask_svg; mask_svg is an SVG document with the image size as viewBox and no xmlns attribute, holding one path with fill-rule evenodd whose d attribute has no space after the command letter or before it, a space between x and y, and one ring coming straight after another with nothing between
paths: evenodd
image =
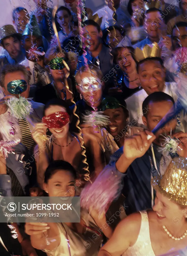
<instances>
[{"instance_id":1,"label":"large motion-blurred pink tinsel pom-pom beside the bottom smiling woman","mask_svg":"<svg viewBox=\"0 0 187 256\"><path fill-rule=\"evenodd\" d=\"M80 194L80 206L90 210L97 210L99 216L107 212L112 201L117 199L123 188L124 174L115 175L111 167L105 167L93 184L88 183Z\"/></svg>"}]
</instances>

